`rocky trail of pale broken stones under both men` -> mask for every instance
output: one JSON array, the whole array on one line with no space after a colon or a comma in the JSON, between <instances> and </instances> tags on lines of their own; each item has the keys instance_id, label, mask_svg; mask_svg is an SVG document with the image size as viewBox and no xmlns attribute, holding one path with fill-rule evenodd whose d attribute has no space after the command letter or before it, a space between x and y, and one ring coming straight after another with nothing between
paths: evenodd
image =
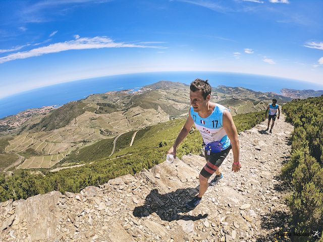
<instances>
[{"instance_id":1,"label":"rocky trail of pale broken stones under both men","mask_svg":"<svg viewBox=\"0 0 323 242\"><path fill-rule=\"evenodd\" d=\"M198 192L205 159L185 155L79 194L0 203L0 241L275 241L289 229L280 173L293 126L284 118L272 134L264 132L267 120L240 133L242 169L231 171L231 151L220 167L224 177L193 210L183 204Z\"/></svg>"}]
</instances>

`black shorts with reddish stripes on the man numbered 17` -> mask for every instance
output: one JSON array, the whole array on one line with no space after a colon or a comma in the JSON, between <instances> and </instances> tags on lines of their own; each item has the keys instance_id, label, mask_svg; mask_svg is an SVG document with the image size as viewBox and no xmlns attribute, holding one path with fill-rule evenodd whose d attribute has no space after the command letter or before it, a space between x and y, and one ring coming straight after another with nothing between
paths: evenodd
<instances>
[{"instance_id":1,"label":"black shorts with reddish stripes on the man numbered 17","mask_svg":"<svg viewBox=\"0 0 323 242\"><path fill-rule=\"evenodd\" d=\"M231 150L232 146L230 145L227 149L219 152L219 153L210 153L207 154L207 150L205 150L205 159L206 159L206 165L201 170L200 174L204 176L205 178L210 178L210 176L216 172L216 170L219 168L219 166L222 164L224 159L229 154L229 151Z\"/></svg>"}]
</instances>

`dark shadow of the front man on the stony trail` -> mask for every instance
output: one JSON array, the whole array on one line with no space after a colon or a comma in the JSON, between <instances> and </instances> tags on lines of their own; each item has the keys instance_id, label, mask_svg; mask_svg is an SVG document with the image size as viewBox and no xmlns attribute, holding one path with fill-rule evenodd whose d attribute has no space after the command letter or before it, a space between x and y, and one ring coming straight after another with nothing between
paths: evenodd
<instances>
[{"instance_id":1,"label":"dark shadow of the front man on the stony trail","mask_svg":"<svg viewBox=\"0 0 323 242\"><path fill-rule=\"evenodd\" d=\"M184 207L184 204L189 202L195 194L197 189L177 189L175 192L167 194L159 194L157 189L152 190L146 197L144 205L136 207L133 215L138 218L148 217L151 213L155 212L161 220L173 221L183 219L198 220L206 218L208 214L199 214L191 216L188 214L191 209Z\"/></svg>"}]
</instances>

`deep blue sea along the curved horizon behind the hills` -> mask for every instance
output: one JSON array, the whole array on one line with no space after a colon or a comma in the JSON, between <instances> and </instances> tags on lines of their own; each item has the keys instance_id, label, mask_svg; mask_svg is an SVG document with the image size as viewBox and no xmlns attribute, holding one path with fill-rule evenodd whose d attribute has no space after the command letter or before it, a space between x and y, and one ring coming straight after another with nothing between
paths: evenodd
<instances>
[{"instance_id":1,"label":"deep blue sea along the curved horizon behind the hills","mask_svg":"<svg viewBox=\"0 0 323 242\"><path fill-rule=\"evenodd\" d=\"M208 79L212 87L224 85L253 91L281 94L283 88L323 90L323 84L272 76L228 72L149 72L106 76L42 87L0 99L0 118L30 108L63 105L84 99L91 94L125 89L138 90L161 80L190 84L196 78Z\"/></svg>"}]
</instances>

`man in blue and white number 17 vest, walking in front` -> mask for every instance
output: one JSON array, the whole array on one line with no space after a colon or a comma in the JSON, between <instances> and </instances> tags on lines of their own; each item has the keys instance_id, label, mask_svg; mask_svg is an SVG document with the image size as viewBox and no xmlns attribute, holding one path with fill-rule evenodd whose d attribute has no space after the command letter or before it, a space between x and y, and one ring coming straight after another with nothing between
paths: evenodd
<instances>
[{"instance_id":1,"label":"man in blue and white number 17 vest, walking in front","mask_svg":"<svg viewBox=\"0 0 323 242\"><path fill-rule=\"evenodd\" d=\"M228 108L210 102L211 86L203 81L196 79L190 86L191 108L185 125L177 136L177 139L168 154L176 157L176 148L185 139L192 126L202 135L205 145L205 159L207 163L199 174L199 193L192 201L185 204L189 209L195 208L200 202L203 194L208 188L208 178L215 172L217 175L211 181L216 184L222 178L219 166L229 154L232 148L234 161L232 170L237 172L241 168L239 162L239 140L235 124Z\"/></svg>"}]
</instances>

